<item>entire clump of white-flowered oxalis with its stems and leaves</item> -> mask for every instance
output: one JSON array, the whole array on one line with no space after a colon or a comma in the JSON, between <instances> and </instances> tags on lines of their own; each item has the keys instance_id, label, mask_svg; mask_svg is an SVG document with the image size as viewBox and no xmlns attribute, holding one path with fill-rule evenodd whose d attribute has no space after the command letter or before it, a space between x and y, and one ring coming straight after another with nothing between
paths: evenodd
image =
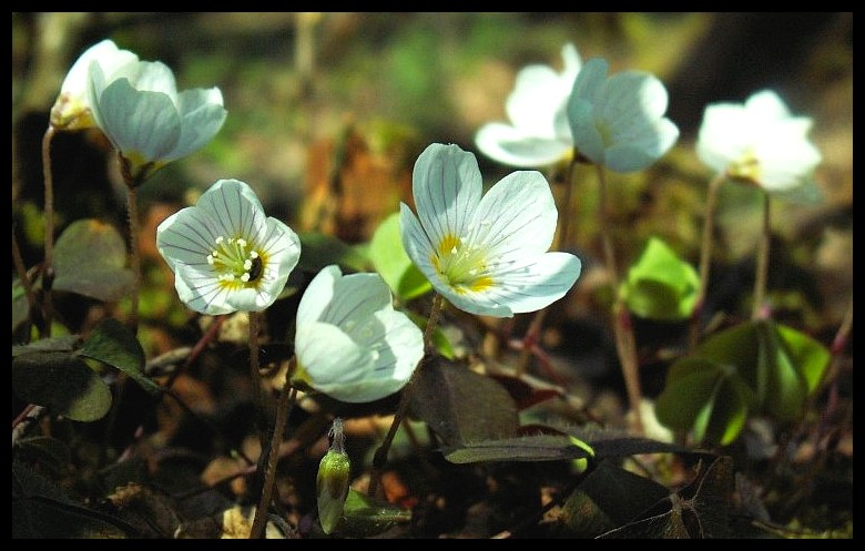
<instances>
[{"instance_id":1,"label":"entire clump of white-flowered oxalis with its stems and leaves","mask_svg":"<svg viewBox=\"0 0 865 551\"><path fill-rule=\"evenodd\" d=\"M146 237L173 277L172 299L203 325L194 346L152 357L142 325L153 320L140 315L147 279L138 191L167 163L205 147L230 110L218 88L179 91L167 65L111 40L86 49L69 69L42 141L38 265L23 264L13 232L12 386L27 405L12 422L13 538L411 534L441 506L396 497L387 477L406 449L427 472L455 477L553 466L550 472L566 482L490 535L518 535L545 522L558 535L579 537L731 537L743 527L746 534L769 533L742 520L753 511L735 509L732 450L754 419L804 422L832 382L833 355L852 325L851 306L830 349L774 319L767 293L771 202L812 200L816 188L821 153L807 137L812 120L791 114L771 90L743 104L708 105L695 156L714 176L698 262L657 235L640 251L622 251L611 188L618 175L648 170L676 144L668 92L652 73L611 72L603 58L583 62L571 43L561 57L558 68L520 70L505 105L508 120L475 135L477 151L510 173L486 185L475 153L429 143L413 160L410 197L363 246L295 232L267 215L255 182L227 174L167 215ZM85 130L101 132L113 150L125 184L126 238L82 217L55 239L52 140ZM587 181L597 184L592 208L580 203ZM753 314L716 324L704 308L724 185L753 191L763 224ZM532 374L549 363L541 339L548 314L583 293L589 258L572 229L580 216L597 217L598 234L589 238L602 258L591 263L603 273L600 303L630 410L619 427L588 414L579 425L526 415L546 400L568 404L566 389ZM57 307L67 295L102 305L80 333ZM472 358L486 354L480 346L456 350L459 324L517 317L526 331L509 343L516 354L507 369L478 370L484 361ZM654 399L641 386L639 322L684 335ZM223 336L230 324L242 328L233 340ZM223 368L242 367L234 384L252 407L228 425L255 438L226 445L234 472L202 490L241 481L237 502L195 514L177 503L197 490L169 494L147 481L146 465L134 462L159 460L160 442L147 438L150 414L135 417L125 448L110 448L129 388L153 415L179 408L194 430L223 438L225 428L177 389L207 350ZM384 424L372 443L360 442L350 425L373 414ZM102 494L85 503L60 483L72 462L61 435L91 426L105 435L105 477ZM688 479L664 484L639 472L640 465L648 470L640 463L647 457L660 468L688 466ZM317 470L303 468L301 458L314 458ZM307 487L315 503L291 503L292 488Z\"/></svg>"}]
</instances>

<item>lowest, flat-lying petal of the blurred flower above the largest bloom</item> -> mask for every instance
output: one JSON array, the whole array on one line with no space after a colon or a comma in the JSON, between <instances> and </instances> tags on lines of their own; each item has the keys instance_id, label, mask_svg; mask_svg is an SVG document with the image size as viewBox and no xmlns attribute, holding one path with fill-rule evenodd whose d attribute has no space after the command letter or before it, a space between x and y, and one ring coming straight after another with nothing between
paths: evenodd
<instances>
[{"instance_id":1,"label":"lowest, flat-lying petal of the blurred flower above the largest bloom","mask_svg":"<svg viewBox=\"0 0 865 551\"><path fill-rule=\"evenodd\" d=\"M521 130L500 122L481 126L475 144L488 157L518 167L553 164L571 149L570 140L526 136Z\"/></svg>"}]
</instances>

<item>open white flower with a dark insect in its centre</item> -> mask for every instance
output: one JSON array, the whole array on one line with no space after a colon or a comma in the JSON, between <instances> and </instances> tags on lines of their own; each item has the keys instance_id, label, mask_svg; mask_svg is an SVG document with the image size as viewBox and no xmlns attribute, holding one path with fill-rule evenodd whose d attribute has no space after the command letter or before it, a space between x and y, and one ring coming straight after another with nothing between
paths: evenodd
<instances>
[{"instance_id":1,"label":"open white flower with a dark insect in its centre","mask_svg":"<svg viewBox=\"0 0 865 551\"><path fill-rule=\"evenodd\" d=\"M208 315L264 310L301 257L297 234L266 216L237 180L217 181L195 206L169 216L156 228L156 246L181 300Z\"/></svg>"}]
</instances>

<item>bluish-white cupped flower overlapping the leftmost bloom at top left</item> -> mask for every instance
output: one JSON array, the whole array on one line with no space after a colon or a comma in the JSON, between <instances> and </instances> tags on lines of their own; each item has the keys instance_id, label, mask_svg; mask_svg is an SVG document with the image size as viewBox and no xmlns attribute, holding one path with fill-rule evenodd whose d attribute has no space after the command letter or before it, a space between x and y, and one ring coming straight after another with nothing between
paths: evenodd
<instances>
[{"instance_id":1,"label":"bluish-white cupped flower overlapping the leftmost bloom at top left","mask_svg":"<svg viewBox=\"0 0 865 551\"><path fill-rule=\"evenodd\" d=\"M113 75L92 62L88 93L93 119L136 180L203 147L227 114L218 88L177 92L159 61L130 63Z\"/></svg>"}]
</instances>

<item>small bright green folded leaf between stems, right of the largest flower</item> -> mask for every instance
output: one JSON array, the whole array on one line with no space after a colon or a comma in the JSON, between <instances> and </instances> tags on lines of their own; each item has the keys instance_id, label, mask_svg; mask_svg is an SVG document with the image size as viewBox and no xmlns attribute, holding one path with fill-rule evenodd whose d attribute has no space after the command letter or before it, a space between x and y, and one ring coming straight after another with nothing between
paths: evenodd
<instances>
[{"instance_id":1,"label":"small bright green folded leaf between stems, right of the largest flower","mask_svg":"<svg viewBox=\"0 0 865 551\"><path fill-rule=\"evenodd\" d=\"M700 276L658 237L651 237L631 266L621 293L628 309L662 322L691 316L700 290Z\"/></svg>"}]
</instances>

